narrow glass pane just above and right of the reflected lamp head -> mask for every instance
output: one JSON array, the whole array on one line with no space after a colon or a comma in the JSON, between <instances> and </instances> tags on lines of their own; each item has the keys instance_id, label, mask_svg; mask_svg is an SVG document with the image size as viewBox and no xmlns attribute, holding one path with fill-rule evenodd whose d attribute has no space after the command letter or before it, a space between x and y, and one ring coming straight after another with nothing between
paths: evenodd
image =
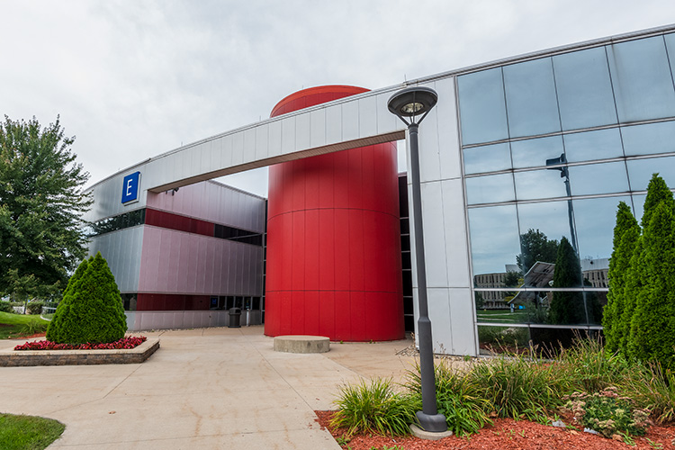
<instances>
[{"instance_id":1,"label":"narrow glass pane just above and right of the reflected lamp head","mask_svg":"<svg viewBox=\"0 0 675 450\"><path fill-rule=\"evenodd\" d=\"M624 156L617 128L566 134L563 139L567 160L571 163Z\"/></svg>"}]
</instances>

